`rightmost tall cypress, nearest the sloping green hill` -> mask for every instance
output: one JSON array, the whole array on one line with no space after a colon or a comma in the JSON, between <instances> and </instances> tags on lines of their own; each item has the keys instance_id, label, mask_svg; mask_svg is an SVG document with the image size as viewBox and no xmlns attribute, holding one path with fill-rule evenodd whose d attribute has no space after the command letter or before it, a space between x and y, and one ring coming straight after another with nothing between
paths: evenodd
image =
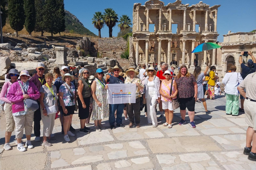
<instances>
[{"instance_id":1,"label":"rightmost tall cypress, nearest the sloping green hill","mask_svg":"<svg viewBox=\"0 0 256 170\"><path fill-rule=\"evenodd\" d=\"M64 0L56 0L56 29L60 35L60 32L65 31L65 10L64 10Z\"/></svg>"}]
</instances>

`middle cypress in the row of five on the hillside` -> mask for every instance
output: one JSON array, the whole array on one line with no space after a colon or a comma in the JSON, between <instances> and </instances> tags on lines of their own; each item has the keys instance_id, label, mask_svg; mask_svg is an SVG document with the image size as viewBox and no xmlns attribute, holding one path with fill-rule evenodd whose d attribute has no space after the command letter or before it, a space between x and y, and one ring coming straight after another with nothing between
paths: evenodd
<instances>
[{"instance_id":1,"label":"middle cypress in the row of five on the hillside","mask_svg":"<svg viewBox=\"0 0 256 170\"><path fill-rule=\"evenodd\" d=\"M45 0L35 0L35 9L36 9L36 25L35 32L41 32L43 37L45 31L45 21L44 21L44 9L45 9Z\"/></svg>"}]
</instances>

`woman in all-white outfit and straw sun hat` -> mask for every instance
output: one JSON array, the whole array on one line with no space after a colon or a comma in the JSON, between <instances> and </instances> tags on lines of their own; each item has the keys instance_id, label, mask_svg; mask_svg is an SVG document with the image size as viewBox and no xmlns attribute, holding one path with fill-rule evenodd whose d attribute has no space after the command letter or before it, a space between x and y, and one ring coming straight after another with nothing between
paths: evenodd
<instances>
[{"instance_id":1,"label":"woman in all-white outfit and straw sun hat","mask_svg":"<svg viewBox=\"0 0 256 170\"><path fill-rule=\"evenodd\" d=\"M144 82L143 94L147 102L147 111L148 111L148 125L153 125L153 128L157 127L157 116L155 106L156 103L160 102L160 80L156 76L156 70L154 67L149 67L147 70L146 80Z\"/></svg>"}]
</instances>

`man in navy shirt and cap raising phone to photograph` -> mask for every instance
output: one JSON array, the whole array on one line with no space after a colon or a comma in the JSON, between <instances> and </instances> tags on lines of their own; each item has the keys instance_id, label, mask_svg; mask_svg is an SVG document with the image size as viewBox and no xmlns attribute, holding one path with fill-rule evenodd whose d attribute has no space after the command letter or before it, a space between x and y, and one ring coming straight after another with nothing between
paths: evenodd
<instances>
[{"instance_id":1,"label":"man in navy shirt and cap raising phone to photograph","mask_svg":"<svg viewBox=\"0 0 256 170\"><path fill-rule=\"evenodd\" d=\"M250 51L248 51L248 55L250 55L252 57L252 59L249 59L247 61L247 66L243 63L243 59L242 56L244 54L244 51L241 52L240 56L239 56L239 63L241 64L241 76L243 79L245 79L245 77L248 74L254 73L256 71L256 59L255 57L252 55L252 53ZM244 97L240 94L240 99L241 99L241 108L239 109L239 112L244 112Z\"/></svg>"}]
</instances>

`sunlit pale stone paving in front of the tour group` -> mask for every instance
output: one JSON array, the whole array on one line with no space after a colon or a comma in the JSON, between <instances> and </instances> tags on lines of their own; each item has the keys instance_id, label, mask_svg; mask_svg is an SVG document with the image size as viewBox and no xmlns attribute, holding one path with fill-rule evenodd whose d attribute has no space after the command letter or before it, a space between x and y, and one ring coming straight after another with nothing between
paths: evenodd
<instances>
[{"instance_id":1,"label":"sunlit pale stone paving in front of the tour group","mask_svg":"<svg viewBox=\"0 0 256 170\"><path fill-rule=\"evenodd\" d=\"M203 104L196 103L195 123L180 126L179 110L175 110L173 128L163 127L163 121L153 128L147 125L141 112L141 127L91 130L89 134L76 132L65 142L60 133L59 120L55 121L54 134L58 140L51 147L40 146L32 138L33 149L19 152L15 142L13 150L0 147L0 169L19 170L255 170L256 162L243 155L246 129L244 114L233 117L225 114L225 96L207 100L211 114L205 115ZM158 115L159 116L159 115ZM124 118L124 117L123 117ZM189 123L188 116L186 121ZM73 127L80 127L78 115ZM42 127L41 127L42 128ZM93 125L90 126L93 128ZM0 118L0 143L4 144L5 118ZM25 138L25 136L24 136ZM14 140L14 133L12 136ZM25 141L25 139L24 139Z\"/></svg>"}]
</instances>

